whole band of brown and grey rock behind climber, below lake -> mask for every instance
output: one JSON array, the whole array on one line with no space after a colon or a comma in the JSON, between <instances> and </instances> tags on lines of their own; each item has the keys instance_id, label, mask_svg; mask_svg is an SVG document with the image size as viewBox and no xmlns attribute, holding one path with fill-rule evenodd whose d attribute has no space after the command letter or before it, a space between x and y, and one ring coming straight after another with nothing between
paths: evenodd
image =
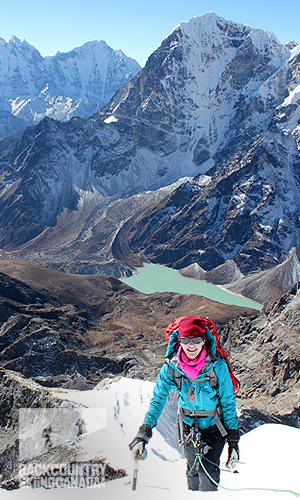
<instances>
[{"instance_id":1,"label":"whole band of brown and grey rock behind climber, below lake","mask_svg":"<svg viewBox=\"0 0 300 500\"><path fill-rule=\"evenodd\" d=\"M299 284L258 312L193 295L143 295L114 278L9 261L1 268L4 369L78 389L109 374L155 380L166 325L200 313L218 325L243 405L288 415L299 403Z\"/></svg>"}]
</instances>

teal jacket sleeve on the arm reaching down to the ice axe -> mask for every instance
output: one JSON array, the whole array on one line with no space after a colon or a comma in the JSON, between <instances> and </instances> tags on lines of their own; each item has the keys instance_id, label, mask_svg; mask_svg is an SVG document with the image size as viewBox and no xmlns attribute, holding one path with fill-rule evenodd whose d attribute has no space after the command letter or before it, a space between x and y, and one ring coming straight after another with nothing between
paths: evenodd
<instances>
[{"instance_id":1,"label":"teal jacket sleeve on the arm reaching down to the ice axe","mask_svg":"<svg viewBox=\"0 0 300 500\"><path fill-rule=\"evenodd\" d=\"M168 375L168 371L169 365L165 363L158 374L149 410L145 415L144 424L150 425L152 428L157 424L157 420L164 409L169 392L174 389L177 390L177 385L172 375Z\"/></svg>"}]
</instances>

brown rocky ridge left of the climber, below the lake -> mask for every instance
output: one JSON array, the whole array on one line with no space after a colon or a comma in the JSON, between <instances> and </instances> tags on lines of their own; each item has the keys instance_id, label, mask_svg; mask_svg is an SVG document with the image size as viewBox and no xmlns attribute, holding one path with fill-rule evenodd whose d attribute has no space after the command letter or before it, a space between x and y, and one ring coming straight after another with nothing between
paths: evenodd
<instances>
[{"instance_id":1,"label":"brown rocky ridge left of the climber, below the lake","mask_svg":"<svg viewBox=\"0 0 300 500\"><path fill-rule=\"evenodd\" d=\"M201 310L218 324L257 311L196 295L144 295L119 280L0 262L0 366L43 385L84 389L107 374L154 377L174 317ZM160 352L163 355L160 355Z\"/></svg>"}]
</instances>

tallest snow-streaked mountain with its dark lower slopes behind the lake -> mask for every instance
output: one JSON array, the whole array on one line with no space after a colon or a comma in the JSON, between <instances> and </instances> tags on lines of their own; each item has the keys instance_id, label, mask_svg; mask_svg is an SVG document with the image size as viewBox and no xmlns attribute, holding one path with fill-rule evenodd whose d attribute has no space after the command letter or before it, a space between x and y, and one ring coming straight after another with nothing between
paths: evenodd
<instances>
[{"instance_id":1,"label":"tallest snow-streaked mountain with its dark lower slopes behind the lake","mask_svg":"<svg viewBox=\"0 0 300 500\"><path fill-rule=\"evenodd\" d=\"M87 247L99 262L103 218L117 199L143 192L144 200L150 189L198 176L191 190L179 188L170 210L158 207L157 229L168 242L152 239L146 253L205 270L238 260L245 274L277 265L299 239L299 65L299 44L214 13L179 25L92 118L45 119L20 140L0 142L1 247L26 245L22 259L30 247L32 259L50 262L55 237L55 265L70 249L80 258L84 248L86 259ZM183 259L186 248L172 254L173 237L196 193L203 205L194 206L191 259ZM125 216L118 202L120 227L142 210L137 198L130 203ZM147 221L134 228L135 251L138 234L153 229Z\"/></svg>"}]
</instances>

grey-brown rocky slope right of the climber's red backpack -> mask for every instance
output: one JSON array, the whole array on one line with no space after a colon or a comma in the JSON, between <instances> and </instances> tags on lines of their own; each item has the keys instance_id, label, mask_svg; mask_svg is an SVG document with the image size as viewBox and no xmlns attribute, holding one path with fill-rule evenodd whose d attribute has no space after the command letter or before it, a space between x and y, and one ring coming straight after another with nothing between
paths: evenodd
<instances>
[{"instance_id":1,"label":"grey-brown rocky slope right of the climber's red backpack","mask_svg":"<svg viewBox=\"0 0 300 500\"><path fill-rule=\"evenodd\" d=\"M299 301L298 283L266 303L256 318L237 319L221 329L241 381L242 404L281 415L299 406Z\"/></svg>"}]
</instances>

